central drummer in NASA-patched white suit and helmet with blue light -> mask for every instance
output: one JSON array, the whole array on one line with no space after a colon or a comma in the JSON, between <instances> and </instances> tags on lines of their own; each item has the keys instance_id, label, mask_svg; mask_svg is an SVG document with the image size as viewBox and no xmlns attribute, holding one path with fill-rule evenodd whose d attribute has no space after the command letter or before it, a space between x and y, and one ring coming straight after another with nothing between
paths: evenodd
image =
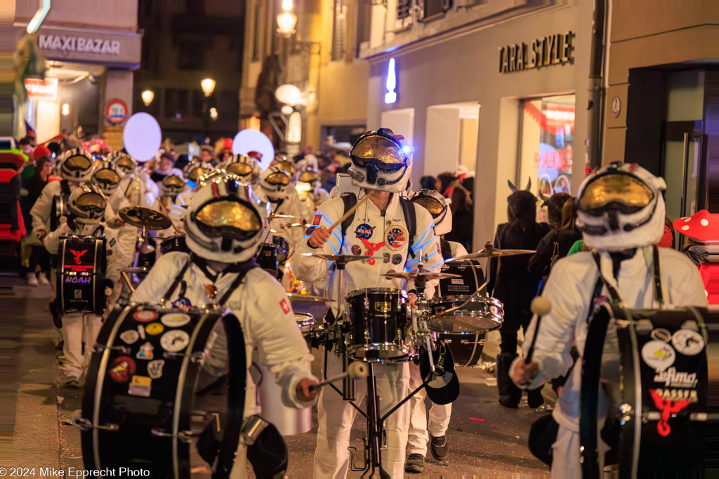
<instances>
[{"instance_id":1,"label":"central drummer in NASA-patched white suit and helmet with blue light","mask_svg":"<svg viewBox=\"0 0 719 479\"><path fill-rule=\"evenodd\" d=\"M314 252L367 256L366 261L347 264L342 284L345 293L360 288L397 289L400 287L398 280L387 279L382 275L388 271L416 269L421 252L428 256L425 266L432 271L439 271L442 259L431 215L418 205L400 200L400 193L405 190L411 175L411 152L412 148L403 136L395 135L390 129L368 131L357 139L350 151L352 167L349 174L352 175L353 184L360 188L359 199L367 196L369 200L354 211L346 231L338 226L331 233L328 228L343 216L344 200L337 197L321 205L314 216L311 226L313 231L301 241L293 256L293 271L298 279L314 282L330 274L330 297L336 297L339 284L328 261L303 256ZM405 208L408 212L413 210L415 224L408 224L411 220L406 218ZM415 232L413 237L410 237L408 231ZM416 299L414 294L411 297ZM339 308L335 304L330 310L331 315L336 317L343 308L344 304L340 304ZM341 373L340 358L328 354L327 350L324 354L324 375L331 377ZM380 396L380 414L385 414L407 395L408 363L378 364L375 367L375 378L377 394ZM356 387L357 402L361 402L366 383L357 381ZM318 407L319 434L314 475L321 478L345 477L349 465L347 446L355 409L349 401L343 401L336 391L329 390L320 394ZM393 478L401 478L404 474L408 409L408 404L404 404L386 422L388 449L382 452L382 462L385 472Z\"/></svg>"}]
</instances>

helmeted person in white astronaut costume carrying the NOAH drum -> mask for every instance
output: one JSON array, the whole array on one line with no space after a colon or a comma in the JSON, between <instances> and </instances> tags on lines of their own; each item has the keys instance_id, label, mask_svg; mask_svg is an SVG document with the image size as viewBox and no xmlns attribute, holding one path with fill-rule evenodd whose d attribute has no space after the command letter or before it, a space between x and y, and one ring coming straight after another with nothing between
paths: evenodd
<instances>
[{"instance_id":1,"label":"helmeted person in white astronaut costume carrying the NOAH drum","mask_svg":"<svg viewBox=\"0 0 719 479\"><path fill-rule=\"evenodd\" d=\"M60 236L105 236L106 269L105 295L111 296L112 288L119 279L120 265L116 261L116 233L106 228L100 220L104 214L106 199L96 187L85 185L76 188L68 201L68 218L63 217L60 227L45 236L45 248L50 254L58 254ZM83 373L90 363L92 345L95 344L102 326L102 318L93 312L70 312L62 317L63 353L68 361L60 383L63 386L83 385ZM83 343L85 353L83 354Z\"/></svg>"}]
</instances>

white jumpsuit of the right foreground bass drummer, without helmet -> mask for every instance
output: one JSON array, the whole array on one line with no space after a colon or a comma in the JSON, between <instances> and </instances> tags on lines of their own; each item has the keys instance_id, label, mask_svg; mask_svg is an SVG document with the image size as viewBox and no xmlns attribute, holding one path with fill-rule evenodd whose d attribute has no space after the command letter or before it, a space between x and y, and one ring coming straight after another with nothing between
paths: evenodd
<instances>
[{"instance_id":1,"label":"white jumpsuit of the right foreground bass drummer, without helmet","mask_svg":"<svg viewBox=\"0 0 719 479\"><path fill-rule=\"evenodd\" d=\"M654 299L654 279L651 274L651 247L637 250L631 258L621 262L618 278L613 277L613 263L609 254L601 254L605 279L617 289L626 307L659 308ZM706 307L707 297L697 267L684 254L669 248L659 248L661 289L665 304L674 307ZM551 312L541 318L532 361L539 365L539 373L528 386L535 389L545 381L563 376L572 366L569 351L577 346L584 353L587 338L586 318L597 282L597 264L592 254L582 251L560 259L554 264L542 296L551 302ZM603 288L603 295L608 295ZM536 327L536 315L528 327L524 342L526 355ZM618 360L616 329L610 326L607 335L609 350ZM516 358L510 368L523 358ZM582 359L577 360L581 363ZM579 401L582 368L574 367L564 384L552 416L559 424L557 441L552 445L551 475L553 478L582 477L579 439ZM517 385L523 387L521 385ZM607 401L600 389L600 419L606 415Z\"/></svg>"}]
</instances>

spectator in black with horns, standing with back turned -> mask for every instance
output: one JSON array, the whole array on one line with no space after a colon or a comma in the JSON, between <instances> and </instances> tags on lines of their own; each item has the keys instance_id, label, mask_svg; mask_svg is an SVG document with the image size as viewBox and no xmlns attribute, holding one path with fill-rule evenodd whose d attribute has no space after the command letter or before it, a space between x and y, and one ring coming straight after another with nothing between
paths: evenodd
<instances>
[{"instance_id":1,"label":"spectator in black with horns, standing with back turned","mask_svg":"<svg viewBox=\"0 0 719 479\"><path fill-rule=\"evenodd\" d=\"M547 223L537 223L536 197L521 190L508 197L508 223L497 227L493 246L502 249L535 249L541 238L549 232ZM497 386L499 402L505 407L516 409L522 391L509 377L509 366L517 356L517 332L520 327L526 331L532 313L529 303L536 295L541 276L528 271L528 255L505 256L489 261L489 284L487 292L504 304L504 322L500 329L502 342L497 356ZM528 403L532 408L544 402L541 389L528 392Z\"/></svg>"}]
</instances>

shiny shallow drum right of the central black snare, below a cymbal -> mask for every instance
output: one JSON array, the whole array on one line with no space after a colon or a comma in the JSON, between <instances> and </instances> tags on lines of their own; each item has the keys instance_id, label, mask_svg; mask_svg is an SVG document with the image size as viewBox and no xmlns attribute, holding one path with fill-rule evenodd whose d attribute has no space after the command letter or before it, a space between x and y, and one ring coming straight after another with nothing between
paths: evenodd
<instances>
[{"instance_id":1,"label":"shiny shallow drum right of the central black snare, below a cymbal","mask_svg":"<svg viewBox=\"0 0 719 479\"><path fill-rule=\"evenodd\" d=\"M472 297L462 309L444 315L446 310L467 302L468 296L436 297L429 300L431 317L427 327L431 331L454 335L477 335L499 329L504 318L502 302L496 298ZM453 351L454 352L454 351Z\"/></svg>"}]
</instances>

